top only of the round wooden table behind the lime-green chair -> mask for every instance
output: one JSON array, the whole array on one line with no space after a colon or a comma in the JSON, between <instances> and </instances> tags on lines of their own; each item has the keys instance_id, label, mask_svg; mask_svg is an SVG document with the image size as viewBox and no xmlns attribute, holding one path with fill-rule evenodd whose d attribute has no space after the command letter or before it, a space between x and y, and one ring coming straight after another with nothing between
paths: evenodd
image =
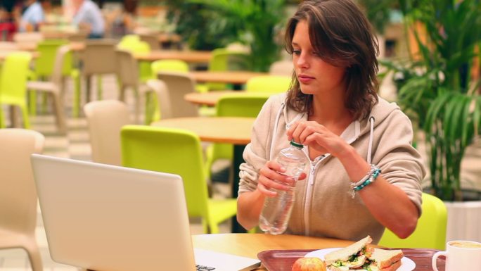
<instances>
[{"instance_id":1,"label":"top only of the round wooden table behind the lime-green chair","mask_svg":"<svg viewBox=\"0 0 481 271\"><path fill-rule=\"evenodd\" d=\"M191 117L169 118L151 125L190 130L202 141L246 145L250 142L254 121L255 118Z\"/></svg>"}]
</instances>

